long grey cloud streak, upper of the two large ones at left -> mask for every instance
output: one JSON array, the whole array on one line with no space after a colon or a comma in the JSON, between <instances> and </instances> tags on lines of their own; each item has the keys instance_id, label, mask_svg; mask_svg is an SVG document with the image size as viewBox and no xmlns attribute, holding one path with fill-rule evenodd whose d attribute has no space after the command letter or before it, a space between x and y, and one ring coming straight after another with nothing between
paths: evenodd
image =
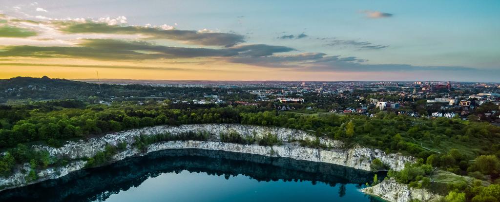
<instances>
[{"instance_id":1,"label":"long grey cloud streak, upper of the two large ones at left","mask_svg":"<svg viewBox=\"0 0 500 202\"><path fill-rule=\"evenodd\" d=\"M244 36L236 33L166 29L165 27L120 26L108 23L62 23L61 31L66 33L115 33L143 34L150 38L184 41L199 45L231 47L244 42Z\"/></svg>"}]
</instances>

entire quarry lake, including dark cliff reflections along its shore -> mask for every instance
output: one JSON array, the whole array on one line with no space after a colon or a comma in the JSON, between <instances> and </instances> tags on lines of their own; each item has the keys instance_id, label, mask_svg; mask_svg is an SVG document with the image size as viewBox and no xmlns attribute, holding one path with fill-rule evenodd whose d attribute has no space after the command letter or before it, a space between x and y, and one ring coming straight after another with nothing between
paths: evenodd
<instances>
[{"instance_id":1,"label":"entire quarry lake, including dark cliff reflections along its shore","mask_svg":"<svg viewBox=\"0 0 500 202\"><path fill-rule=\"evenodd\" d=\"M287 158L175 149L5 190L0 201L379 202L359 192L373 175Z\"/></svg>"}]
</instances>

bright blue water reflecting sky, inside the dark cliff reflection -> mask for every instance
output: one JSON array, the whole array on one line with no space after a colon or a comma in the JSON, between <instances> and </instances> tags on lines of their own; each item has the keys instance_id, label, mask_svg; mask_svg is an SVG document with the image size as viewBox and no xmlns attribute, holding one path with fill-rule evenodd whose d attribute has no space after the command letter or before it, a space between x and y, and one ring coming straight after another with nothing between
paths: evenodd
<instances>
[{"instance_id":1,"label":"bright blue water reflecting sky, inside the dark cliff reflection","mask_svg":"<svg viewBox=\"0 0 500 202\"><path fill-rule=\"evenodd\" d=\"M139 187L110 196L106 202L369 202L354 184L257 182L238 175L229 179L206 173L167 173Z\"/></svg>"}]
</instances>

